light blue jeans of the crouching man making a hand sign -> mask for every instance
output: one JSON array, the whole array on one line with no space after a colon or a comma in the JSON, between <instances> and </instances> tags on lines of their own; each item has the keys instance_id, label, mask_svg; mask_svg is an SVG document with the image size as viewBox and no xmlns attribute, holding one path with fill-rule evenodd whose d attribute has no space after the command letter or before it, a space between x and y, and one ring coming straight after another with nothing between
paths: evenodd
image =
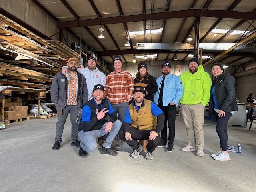
<instances>
[{"instance_id":1,"label":"light blue jeans of the crouching man making a hand sign","mask_svg":"<svg viewBox=\"0 0 256 192\"><path fill-rule=\"evenodd\" d=\"M110 148L112 141L116 137L116 134L119 132L121 127L121 122L119 120L116 120L110 130L110 132L105 131L105 126L107 122L102 126L100 130L93 130L93 131L80 131L78 133L78 136L81 140L80 146L83 148L83 150L87 152L92 152L97 147L96 138L102 137L106 135L108 136L106 138L106 141L102 144L103 147Z\"/></svg>"}]
</instances>

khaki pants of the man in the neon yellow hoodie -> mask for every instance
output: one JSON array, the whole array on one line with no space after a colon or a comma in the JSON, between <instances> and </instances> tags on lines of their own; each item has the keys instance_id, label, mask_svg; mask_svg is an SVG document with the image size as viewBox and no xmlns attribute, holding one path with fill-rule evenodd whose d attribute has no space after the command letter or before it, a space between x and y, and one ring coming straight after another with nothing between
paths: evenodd
<instances>
[{"instance_id":1,"label":"khaki pants of the man in the neon yellow hoodie","mask_svg":"<svg viewBox=\"0 0 256 192\"><path fill-rule=\"evenodd\" d=\"M188 142L197 149L204 149L204 106L181 104L181 114L187 129Z\"/></svg>"}]
</instances>

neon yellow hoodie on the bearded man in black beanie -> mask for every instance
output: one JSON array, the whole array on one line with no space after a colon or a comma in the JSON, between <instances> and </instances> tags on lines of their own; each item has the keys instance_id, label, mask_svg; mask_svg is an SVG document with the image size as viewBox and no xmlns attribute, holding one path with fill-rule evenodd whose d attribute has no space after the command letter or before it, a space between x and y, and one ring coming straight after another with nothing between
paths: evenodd
<instances>
[{"instance_id":1,"label":"neon yellow hoodie on the bearded man in black beanie","mask_svg":"<svg viewBox=\"0 0 256 192\"><path fill-rule=\"evenodd\" d=\"M183 72L180 74L180 79L184 89L180 99L181 104L202 103L205 106L209 102L212 80L202 65L198 66L197 72L193 74L189 70Z\"/></svg>"}]
</instances>

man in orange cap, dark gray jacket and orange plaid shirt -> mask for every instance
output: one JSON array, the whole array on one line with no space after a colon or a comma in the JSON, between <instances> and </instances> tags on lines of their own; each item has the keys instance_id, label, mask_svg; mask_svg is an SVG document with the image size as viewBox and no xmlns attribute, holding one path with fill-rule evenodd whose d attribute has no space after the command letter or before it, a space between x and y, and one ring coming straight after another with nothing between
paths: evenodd
<instances>
[{"instance_id":1,"label":"man in orange cap, dark gray jacket and orange plaid shirt","mask_svg":"<svg viewBox=\"0 0 256 192\"><path fill-rule=\"evenodd\" d=\"M88 98L86 80L82 74L77 72L79 60L70 58L68 60L68 70L64 75L58 72L52 80L51 100L56 106L57 123L55 144L52 150L58 150L62 142L62 133L68 114L71 122L72 146L80 147L78 141L78 116L82 106Z\"/></svg>"}]
</instances>

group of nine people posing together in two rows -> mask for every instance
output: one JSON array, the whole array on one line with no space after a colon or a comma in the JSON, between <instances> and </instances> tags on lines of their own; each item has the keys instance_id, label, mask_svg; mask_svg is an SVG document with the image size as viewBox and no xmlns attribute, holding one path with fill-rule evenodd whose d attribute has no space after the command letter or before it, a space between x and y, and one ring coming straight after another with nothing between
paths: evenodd
<instances>
[{"instance_id":1,"label":"group of nine people posing together in two rows","mask_svg":"<svg viewBox=\"0 0 256 192\"><path fill-rule=\"evenodd\" d=\"M51 99L58 114L52 150L60 148L64 124L70 114L71 145L80 148L79 156L93 151L98 139L101 154L117 155L111 148L116 140L116 148L122 147L121 141L132 148L130 157L138 158L146 150L144 158L151 160L156 147L166 147L166 152L172 152L176 109L180 106L188 136L188 145L181 150L204 156L204 107L210 101L209 115L216 116L220 138L220 150L212 157L230 160L227 122L237 110L235 80L223 74L222 64L212 66L216 77L213 83L197 58L189 60L188 71L180 76L171 74L170 62L164 62L162 76L156 80L148 73L146 62L138 64L133 79L122 69L118 55L112 60L114 71L107 76L98 70L94 57L88 57L86 68L78 68L78 64L79 60L70 58L52 82Z\"/></svg>"}]
</instances>

